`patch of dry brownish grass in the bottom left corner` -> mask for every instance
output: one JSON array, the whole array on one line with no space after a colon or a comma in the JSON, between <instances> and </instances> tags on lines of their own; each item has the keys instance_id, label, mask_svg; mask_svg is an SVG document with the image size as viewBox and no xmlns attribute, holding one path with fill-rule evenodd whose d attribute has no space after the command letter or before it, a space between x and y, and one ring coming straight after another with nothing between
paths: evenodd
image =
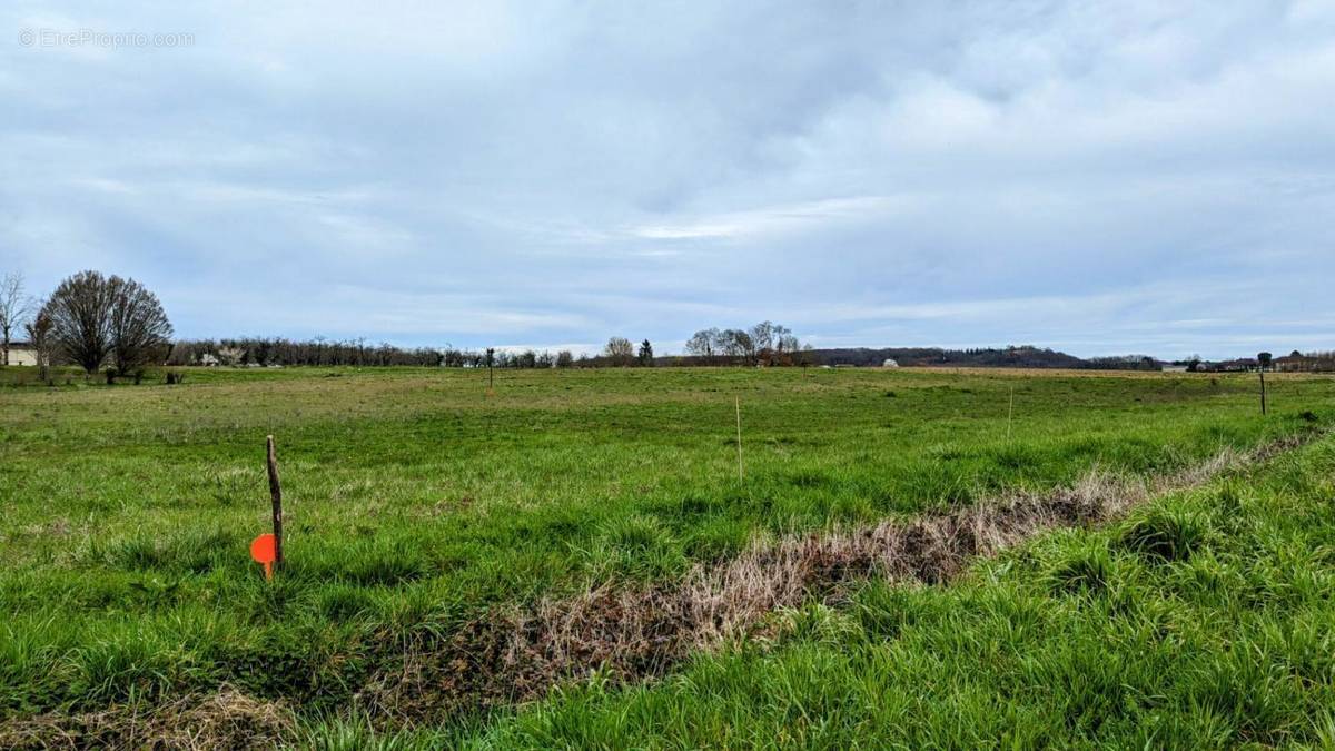
<instances>
[{"instance_id":1,"label":"patch of dry brownish grass in the bottom left corner","mask_svg":"<svg viewBox=\"0 0 1335 751\"><path fill-rule=\"evenodd\" d=\"M224 687L152 708L116 706L4 720L0 748L275 748L292 727L280 703Z\"/></svg>"}]
</instances>

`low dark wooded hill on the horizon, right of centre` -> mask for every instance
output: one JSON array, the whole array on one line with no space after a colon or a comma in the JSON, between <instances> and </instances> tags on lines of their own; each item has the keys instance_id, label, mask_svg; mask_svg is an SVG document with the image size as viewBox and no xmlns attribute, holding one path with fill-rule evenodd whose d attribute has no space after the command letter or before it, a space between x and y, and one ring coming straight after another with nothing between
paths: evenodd
<instances>
[{"instance_id":1,"label":"low dark wooded hill on the horizon, right of centre","mask_svg":"<svg viewBox=\"0 0 1335 751\"><path fill-rule=\"evenodd\" d=\"M820 365L878 366L893 359L901 367L921 367L928 365L945 367L1067 367L1097 370L1157 370L1153 358L1100 357L1081 359L1064 351L1035 346L1011 346L1004 349L964 349L940 347L852 347L817 349L810 355Z\"/></svg>"}]
</instances>

